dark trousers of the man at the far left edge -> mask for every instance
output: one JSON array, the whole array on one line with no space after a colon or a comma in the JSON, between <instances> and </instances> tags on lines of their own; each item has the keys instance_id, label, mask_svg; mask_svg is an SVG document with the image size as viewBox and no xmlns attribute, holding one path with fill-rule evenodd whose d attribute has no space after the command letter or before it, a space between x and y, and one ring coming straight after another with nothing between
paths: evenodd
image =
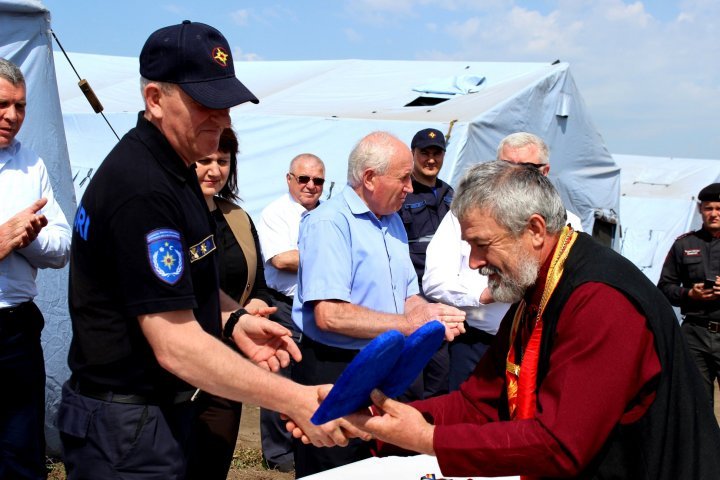
<instances>
[{"instance_id":1,"label":"dark trousers of the man at the far left edge","mask_svg":"<svg viewBox=\"0 0 720 480\"><path fill-rule=\"evenodd\" d=\"M44 320L33 302L0 310L0 478L45 479Z\"/></svg>"}]
</instances>

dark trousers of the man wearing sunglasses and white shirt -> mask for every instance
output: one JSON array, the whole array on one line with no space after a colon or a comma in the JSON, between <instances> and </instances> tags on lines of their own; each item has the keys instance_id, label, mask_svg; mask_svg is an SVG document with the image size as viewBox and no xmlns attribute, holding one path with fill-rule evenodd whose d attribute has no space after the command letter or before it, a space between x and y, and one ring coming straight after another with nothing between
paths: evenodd
<instances>
[{"instance_id":1,"label":"dark trousers of the man wearing sunglasses and white shirt","mask_svg":"<svg viewBox=\"0 0 720 480\"><path fill-rule=\"evenodd\" d=\"M293 337L298 338L299 332L292 321L292 298L285 297L278 293L274 302L277 312L270 315L273 320L293 332ZM278 372L286 378L291 378L292 363ZM280 414L264 408L260 409L260 440L265 462L269 468L288 470L293 463L293 439L290 432L285 428L285 420Z\"/></svg>"}]
</instances>

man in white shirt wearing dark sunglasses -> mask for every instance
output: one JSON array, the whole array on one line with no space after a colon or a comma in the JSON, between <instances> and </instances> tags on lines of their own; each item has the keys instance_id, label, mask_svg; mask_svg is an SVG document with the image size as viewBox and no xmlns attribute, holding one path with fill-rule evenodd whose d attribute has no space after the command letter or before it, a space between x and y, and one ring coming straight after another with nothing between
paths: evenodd
<instances>
[{"instance_id":1,"label":"man in white shirt wearing dark sunglasses","mask_svg":"<svg viewBox=\"0 0 720 480\"><path fill-rule=\"evenodd\" d=\"M258 237L265 262L265 282L273 290L278 309L270 319L290 329L294 335L299 335L291 319L300 261L298 232L302 217L320 204L325 183L325 164L312 153L301 153L290 162L285 180L288 192L262 211ZM291 368L288 366L282 369L282 375L290 378ZM260 430L263 457L268 467L281 471L292 470L292 438L280 415L262 409Z\"/></svg>"}]
</instances>

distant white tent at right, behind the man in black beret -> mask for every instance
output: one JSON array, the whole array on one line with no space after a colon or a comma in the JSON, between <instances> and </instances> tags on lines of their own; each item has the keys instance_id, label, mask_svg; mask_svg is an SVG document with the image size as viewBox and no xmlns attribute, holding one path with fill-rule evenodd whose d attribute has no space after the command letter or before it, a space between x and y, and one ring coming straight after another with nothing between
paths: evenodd
<instances>
[{"instance_id":1,"label":"distant white tent at right, behind the man in black beret","mask_svg":"<svg viewBox=\"0 0 720 480\"><path fill-rule=\"evenodd\" d=\"M720 160L613 155L620 166L619 251L657 283L675 239L702 224L697 194L720 182Z\"/></svg>"}]
</instances>

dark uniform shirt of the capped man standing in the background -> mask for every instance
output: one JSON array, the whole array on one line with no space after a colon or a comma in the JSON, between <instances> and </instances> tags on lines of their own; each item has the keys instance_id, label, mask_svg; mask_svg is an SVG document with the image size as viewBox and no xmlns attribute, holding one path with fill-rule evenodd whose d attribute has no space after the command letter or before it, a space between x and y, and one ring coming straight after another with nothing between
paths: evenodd
<instances>
[{"instance_id":1,"label":"dark uniform shirt of the capped man standing in the background","mask_svg":"<svg viewBox=\"0 0 720 480\"><path fill-rule=\"evenodd\" d=\"M414 178L412 185L413 192L405 197L400 216L408 234L410 258L415 266L422 292L427 246L435 235L440 221L450 210L454 191L439 178L435 181L435 188L423 185Z\"/></svg>"}]
</instances>

